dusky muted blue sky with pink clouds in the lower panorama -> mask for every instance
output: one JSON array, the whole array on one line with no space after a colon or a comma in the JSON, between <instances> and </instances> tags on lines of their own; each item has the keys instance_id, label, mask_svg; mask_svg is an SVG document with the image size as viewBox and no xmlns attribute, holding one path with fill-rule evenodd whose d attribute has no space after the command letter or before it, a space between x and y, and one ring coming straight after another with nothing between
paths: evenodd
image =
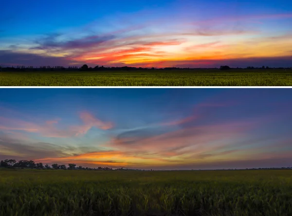
<instances>
[{"instance_id":1,"label":"dusky muted blue sky with pink clouds in the lower panorama","mask_svg":"<svg viewBox=\"0 0 292 216\"><path fill-rule=\"evenodd\" d=\"M291 110L292 89L0 89L0 160L288 167Z\"/></svg>"}]
</instances>

